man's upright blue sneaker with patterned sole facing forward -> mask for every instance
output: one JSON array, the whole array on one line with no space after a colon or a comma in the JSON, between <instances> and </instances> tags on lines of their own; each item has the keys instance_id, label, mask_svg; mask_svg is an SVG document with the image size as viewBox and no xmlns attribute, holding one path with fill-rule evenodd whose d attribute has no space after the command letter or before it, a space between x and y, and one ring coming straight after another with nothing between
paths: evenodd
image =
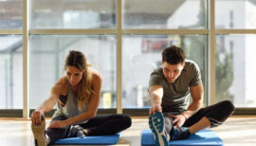
<instances>
[{"instance_id":1,"label":"man's upright blue sneaker with patterned sole facing forward","mask_svg":"<svg viewBox=\"0 0 256 146\"><path fill-rule=\"evenodd\" d=\"M164 118L163 114L160 112L155 112L154 115L149 117L150 129L155 138L156 146L168 146L169 142L167 140L168 135L166 135L164 130Z\"/></svg>"}]
</instances>

